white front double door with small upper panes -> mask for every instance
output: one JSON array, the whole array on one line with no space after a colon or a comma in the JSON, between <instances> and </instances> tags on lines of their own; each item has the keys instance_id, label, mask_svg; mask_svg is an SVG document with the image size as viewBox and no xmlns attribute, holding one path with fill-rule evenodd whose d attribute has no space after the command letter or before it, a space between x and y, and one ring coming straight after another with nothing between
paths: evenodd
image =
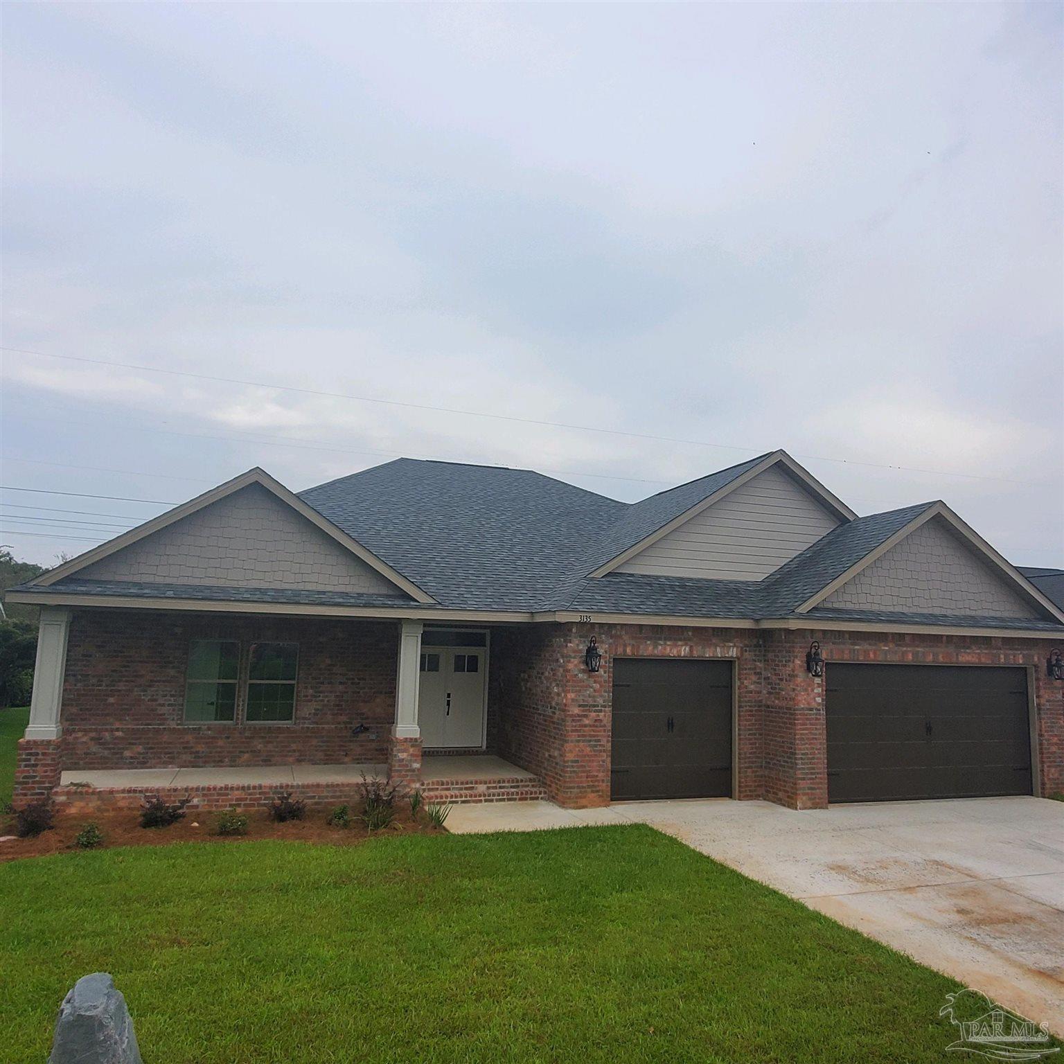
<instances>
[{"instance_id":1,"label":"white front double door with small upper panes","mask_svg":"<svg viewBox=\"0 0 1064 1064\"><path fill-rule=\"evenodd\" d=\"M422 647L417 708L422 746L439 750L484 745L486 676L484 647Z\"/></svg>"}]
</instances>

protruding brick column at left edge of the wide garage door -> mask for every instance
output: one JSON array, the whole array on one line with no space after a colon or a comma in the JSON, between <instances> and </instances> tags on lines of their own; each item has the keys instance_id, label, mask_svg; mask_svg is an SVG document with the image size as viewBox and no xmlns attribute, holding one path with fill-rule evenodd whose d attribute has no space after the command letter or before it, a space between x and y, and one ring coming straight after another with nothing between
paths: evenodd
<instances>
[{"instance_id":1,"label":"protruding brick column at left edge of the wide garage door","mask_svg":"<svg viewBox=\"0 0 1064 1064\"><path fill-rule=\"evenodd\" d=\"M825 677L809 675L811 632L765 632L765 797L791 809L827 809ZM830 658L830 646L826 649Z\"/></svg>"}]
</instances>

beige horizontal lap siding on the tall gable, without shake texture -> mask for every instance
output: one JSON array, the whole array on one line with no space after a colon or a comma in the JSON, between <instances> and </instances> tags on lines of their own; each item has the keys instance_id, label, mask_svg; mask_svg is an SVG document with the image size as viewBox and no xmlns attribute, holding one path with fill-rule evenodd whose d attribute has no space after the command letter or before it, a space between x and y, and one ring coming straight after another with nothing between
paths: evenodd
<instances>
[{"instance_id":1,"label":"beige horizontal lap siding on the tall gable, without shake texture","mask_svg":"<svg viewBox=\"0 0 1064 1064\"><path fill-rule=\"evenodd\" d=\"M804 487L772 466L644 548L616 571L762 580L838 523Z\"/></svg>"}]
</instances>

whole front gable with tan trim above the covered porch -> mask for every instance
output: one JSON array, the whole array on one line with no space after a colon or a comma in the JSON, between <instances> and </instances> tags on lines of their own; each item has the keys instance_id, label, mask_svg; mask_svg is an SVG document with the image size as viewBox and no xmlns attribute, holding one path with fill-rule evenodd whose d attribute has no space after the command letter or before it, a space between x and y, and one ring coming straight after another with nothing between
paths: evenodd
<instances>
[{"instance_id":1,"label":"whole front gable with tan trim above the covered porch","mask_svg":"<svg viewBox=\"0 0 1064 1064\"><path fill-rule=\"evenodd\" d=\"M219 487L45 573L81 580L215 587L300 587L430 596L262 469Z\"/></svg>"}]
</instances>

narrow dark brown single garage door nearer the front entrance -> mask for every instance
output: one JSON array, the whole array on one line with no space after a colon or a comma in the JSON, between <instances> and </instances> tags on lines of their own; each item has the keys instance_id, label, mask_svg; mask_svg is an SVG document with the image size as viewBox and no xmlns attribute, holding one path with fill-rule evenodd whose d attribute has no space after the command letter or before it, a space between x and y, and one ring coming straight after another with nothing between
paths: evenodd
<instances>
[{"instance_id":1,"label":"narrow dark brown single garage door nearer the front entrance","mask_svg":"<svg viewBox=\"0 0 1064 1064\"><path fill-rule=\"evenodd\" d=\"M611 796L731 795L731 662L613 661Z\"/></svg>"}]
</instances>

